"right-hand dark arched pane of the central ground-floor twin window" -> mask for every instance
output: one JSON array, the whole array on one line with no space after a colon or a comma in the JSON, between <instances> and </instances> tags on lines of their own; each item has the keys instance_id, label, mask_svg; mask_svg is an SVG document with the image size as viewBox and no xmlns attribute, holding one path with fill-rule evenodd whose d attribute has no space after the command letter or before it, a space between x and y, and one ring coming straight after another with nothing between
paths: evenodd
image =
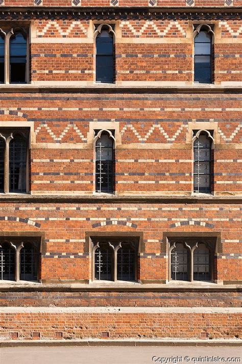
<instances>
[{"instance_id":1,"label":"right-hand dark arched pane of the central ground-floor twin window","mask_svg":"<svg viewBox=\"0 0 242 364\"><path fill-rule=\"evenodd\" d=\"M117 251L117 280L135 281L136 252L128 243Z\"/></svg>"}]
</instances>

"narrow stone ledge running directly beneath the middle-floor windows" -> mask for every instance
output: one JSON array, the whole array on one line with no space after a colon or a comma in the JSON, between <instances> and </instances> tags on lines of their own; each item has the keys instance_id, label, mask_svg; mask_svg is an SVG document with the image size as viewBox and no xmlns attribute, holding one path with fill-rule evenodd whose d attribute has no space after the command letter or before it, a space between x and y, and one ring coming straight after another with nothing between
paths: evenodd
<instances>
[{"instance_id":1,"label":"narrow stone ledge running directly beneath the middle-floor windows","mask_svg":"<svg viewBox=\"0 0 242 364\"><path fill-rule=\"evenodd\" d=\"M195 196L32 196L2 195L0 203L160 203L160 204L242 204L241 197Z\"/></svg>"}]
</instances>

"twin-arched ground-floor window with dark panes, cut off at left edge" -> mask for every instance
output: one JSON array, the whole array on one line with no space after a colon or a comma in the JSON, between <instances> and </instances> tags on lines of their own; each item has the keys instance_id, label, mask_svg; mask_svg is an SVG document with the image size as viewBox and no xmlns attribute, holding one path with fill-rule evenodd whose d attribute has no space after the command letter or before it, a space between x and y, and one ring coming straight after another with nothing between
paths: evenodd
<instances>
[{"instance_id":1,"label":"twin-arched ground-floor window with dark panes, cut off at left edge","mask_svg":"<svg viewBox=\"0 0 242 364\"><path fill-rule=\"evenodd\" d=\"M0 240L0 281L38 281L39 249L38 241L27 238Z\"/></svg>"}]
</instances>

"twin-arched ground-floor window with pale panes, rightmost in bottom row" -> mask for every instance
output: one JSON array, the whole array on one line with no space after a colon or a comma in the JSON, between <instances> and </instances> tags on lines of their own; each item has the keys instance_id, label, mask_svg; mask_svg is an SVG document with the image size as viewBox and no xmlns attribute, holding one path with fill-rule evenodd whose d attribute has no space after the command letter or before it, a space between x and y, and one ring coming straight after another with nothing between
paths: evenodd
<instances>
[{"instance_id":1,"label":"twin-arched ground-floor window with pale panes, rightmost in bottom row","mask_svg":"<svg viewBox=\"0 0 242 364\"><path fill-rule=\"evenodd\" d=\"M200 239L170 242L170 280L213 281L214 242Z\"/></svg>"}]
</instances>

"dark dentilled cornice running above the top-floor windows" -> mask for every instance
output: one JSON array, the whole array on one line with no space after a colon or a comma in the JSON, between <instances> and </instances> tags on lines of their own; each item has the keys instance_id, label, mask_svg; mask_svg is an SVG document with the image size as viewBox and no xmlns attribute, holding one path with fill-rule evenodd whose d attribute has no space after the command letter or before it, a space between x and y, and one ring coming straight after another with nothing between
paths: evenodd
<instances>
[{"instance_id":1,"label":"dark dentilled cornice running above the top-floor windows","mask_svg":"<svg viewBox=\"0 0 242 364\"><path fill-rule=\"evenodd\" d=\"M31 19L191 19L216 20L241 18L241 7L1 7L2 20L31 20Z\"/></svg>"}]
</instances>

